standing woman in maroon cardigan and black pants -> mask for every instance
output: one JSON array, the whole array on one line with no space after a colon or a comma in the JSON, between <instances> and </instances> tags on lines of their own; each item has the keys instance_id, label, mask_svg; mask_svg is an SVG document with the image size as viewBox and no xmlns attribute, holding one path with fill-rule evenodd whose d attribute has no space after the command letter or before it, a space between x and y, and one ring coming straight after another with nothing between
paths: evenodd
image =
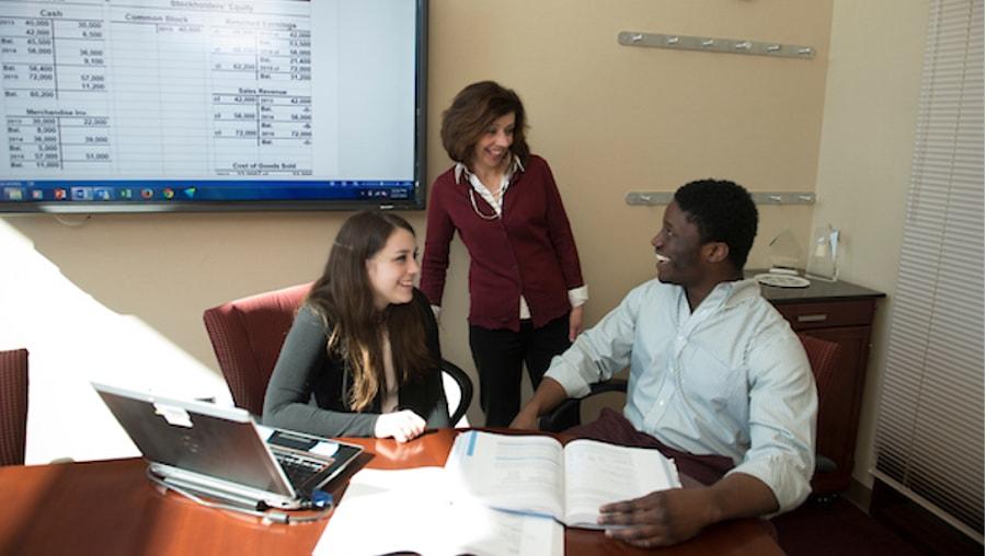
<instances>
[{"instance_id":1,"label":"standing woman in maroon cardigan and black pants","mask_svg":"<svg viewBox=\"0 0 986 556\"><path fill-rule=\"evenodd\" d=\"M582 332L588 298L558 186L530 153L517 94L492 81L463 89L442 116L455 166L432 185L421 290L442 305L449 242L469 250L469 346L488 427L520 409L527 363L535 389Z\"/></svg>"}]
</instances>

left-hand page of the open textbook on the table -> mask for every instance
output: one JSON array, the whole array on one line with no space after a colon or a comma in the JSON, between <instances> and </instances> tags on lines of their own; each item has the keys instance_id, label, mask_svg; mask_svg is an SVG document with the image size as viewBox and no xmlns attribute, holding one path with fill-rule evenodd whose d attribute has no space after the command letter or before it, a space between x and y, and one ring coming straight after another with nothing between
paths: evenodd
<instances>
[{"instance_id":1,"label":"left-hand page of the open textbook on the table","mask_svg":"<svg viewBox=\"0 0 986 556\"><path fill-rule=\"evenodd\" d=\"M456 438L445 468L461 491L492 508L561 521L563 462L553 438L470 430Z\"/></svg>"}]
</instances>

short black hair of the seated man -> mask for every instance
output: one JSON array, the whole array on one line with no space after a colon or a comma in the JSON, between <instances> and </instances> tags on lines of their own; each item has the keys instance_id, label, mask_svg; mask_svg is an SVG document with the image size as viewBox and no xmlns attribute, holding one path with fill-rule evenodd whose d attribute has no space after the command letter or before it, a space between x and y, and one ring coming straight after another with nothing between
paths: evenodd
<instances>
[{"instance_id":1,"label":"short black hair of the seated man","mask_svg":"<svg viewBox=\"0 0 986 556\"><path fill-rule=\"evenodd\" d=\"M675 202L698 227L702 243L729 245L730 262L743 270L757 235L757 207L749 193L725 179L698 179L679 187Z\"/></svg>"}]
</instances>

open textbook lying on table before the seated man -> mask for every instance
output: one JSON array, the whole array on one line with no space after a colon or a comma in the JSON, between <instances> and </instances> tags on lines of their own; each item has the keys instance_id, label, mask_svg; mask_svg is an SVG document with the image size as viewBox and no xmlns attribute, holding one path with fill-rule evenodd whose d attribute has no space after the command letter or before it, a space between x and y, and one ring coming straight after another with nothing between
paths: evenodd
<instances>
[{"instance_id":1,"label":"open textbook lying on table before the seated man","mask_svg":"<svg viewBox=\"0 0 986 556\"><path fill-rule=\"evenodd\" d=\"M681 486L675 463L657 450L474 430L456 438L445 468L492 508L584 529L601 529L603 505Z\"/></svg>"}]
</instances>

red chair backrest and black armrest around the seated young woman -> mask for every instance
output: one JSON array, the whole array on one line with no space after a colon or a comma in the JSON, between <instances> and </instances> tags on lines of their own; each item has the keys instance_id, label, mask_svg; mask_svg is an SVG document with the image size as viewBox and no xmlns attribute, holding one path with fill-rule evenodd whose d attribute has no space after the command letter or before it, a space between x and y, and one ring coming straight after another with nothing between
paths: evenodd
<instances>
[{"instance_id":1,"label":"red chair backrest and black armrest around the seated young woman","mask_svg":"<svg viewBox=\"0 0 986 556\"><path fill-rule=\"evenodd\" d=\"M233 403L254 415L264 410L264 393L284 338L310 290L311 283L291 286L230 301L203 314ZM472 382L448 361L442 362L442 371L455 425L472 401Z\"/></svg>"}]
</instances>

